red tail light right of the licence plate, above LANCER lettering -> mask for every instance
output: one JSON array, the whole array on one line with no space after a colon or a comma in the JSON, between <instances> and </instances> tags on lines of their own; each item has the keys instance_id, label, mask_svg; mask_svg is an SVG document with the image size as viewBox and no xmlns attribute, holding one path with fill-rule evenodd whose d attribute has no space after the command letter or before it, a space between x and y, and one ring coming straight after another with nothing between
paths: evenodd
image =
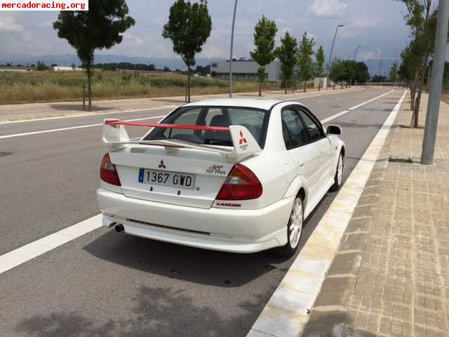
<instances>
[{"instance_id":1,"label":"red tail light right of the licence plate, above LANCER lettering","mask_svg":"<svg viewBox=\"0 0 449 337\"><path fill-rule=\"evenodd\" d=\"M218 200L250 200L262 195L262 184L257 176L241 164L236 164L227 176L220 192Z\"/></svg>"}]
</instances>

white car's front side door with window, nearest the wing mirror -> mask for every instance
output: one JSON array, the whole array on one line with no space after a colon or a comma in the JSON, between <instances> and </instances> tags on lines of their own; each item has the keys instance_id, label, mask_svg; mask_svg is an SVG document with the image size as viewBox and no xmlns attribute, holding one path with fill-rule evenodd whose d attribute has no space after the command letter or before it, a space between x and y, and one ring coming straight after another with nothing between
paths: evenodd
<instances>
[{"instance_id":1,"label":"white car's front side door with window, nearest the wing mirror","mask_svg":"<svg viewBox=\"0 0 449 337\"><path fill-rule=\"evenodd\" d=\"M323 127L316 117L304 107L298 107L300 117L309 133L309 141L319 150L319 180L321 184L333 178L332 149L330 140L326 137Z\"/></svg>"}]
</instances>

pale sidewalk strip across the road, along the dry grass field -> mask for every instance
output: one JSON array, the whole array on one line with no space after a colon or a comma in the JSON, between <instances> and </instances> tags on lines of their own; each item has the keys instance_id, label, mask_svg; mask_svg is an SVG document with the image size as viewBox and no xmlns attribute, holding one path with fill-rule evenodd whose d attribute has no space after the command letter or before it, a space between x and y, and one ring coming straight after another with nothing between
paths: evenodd
<instances>
[{"instance_id":1,"label":"pale sidewalk strip across the road, along the dry grass field","mask_svg":"<svg viewBox=\"0 0 449 337\"><path fill-rule=\"evenodd\" d=\"M337 88L334 90L317 91L316 89L309 89L307 93L288 93L284 91L265 91L262 99L268 98L301 98L309 95L330 95L341 91L355 91L359 87L348 89ZM220 95L198 95L192 96L192 101L205 100L213 98L227 98L228 94ZM258 93L236 93L235 98L259 98ZM128 110L139 111L149 109L163 109L174 108L185 104L184 96L176 97L159 97L159 98L130 98L123 100L94 100L93 111L83 111L82 102L57 102L57 103L29 103L17 105L0 105L0 123L8 121L22 121L28 119L42 119L52 117L67 117L67 116L86 116L95 115L105 112L126 112Z\"/></svg>"}]
</instances>

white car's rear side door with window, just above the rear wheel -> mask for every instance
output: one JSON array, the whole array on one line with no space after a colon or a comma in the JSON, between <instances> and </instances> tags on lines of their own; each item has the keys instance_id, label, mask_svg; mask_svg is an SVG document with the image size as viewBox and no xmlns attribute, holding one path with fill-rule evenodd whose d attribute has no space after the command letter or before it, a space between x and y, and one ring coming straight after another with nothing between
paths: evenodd
<instances>
[{"instance_id":1,"label":"white car's rear side door with window, just above the rear wheel","mask_svg":"<svg viewBox=\"0 0 449 337\"><path fill-rule=\"evenodd\" d=\"M319 183L320 152L309 142L307 128L295 106L283 108L282 128L286 149L295 163L296 173L306 180L309 197L314 197Z\"/></svg>"}]
</instances>

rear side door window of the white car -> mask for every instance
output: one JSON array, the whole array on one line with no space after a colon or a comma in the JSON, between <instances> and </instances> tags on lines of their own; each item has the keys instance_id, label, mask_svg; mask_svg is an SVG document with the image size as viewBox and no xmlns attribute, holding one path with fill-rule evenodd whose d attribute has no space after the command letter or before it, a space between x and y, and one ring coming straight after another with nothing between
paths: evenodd
<instances>
[{"instance_id":1,"label":"rear side door window of the white car","mask_svg":"<svg viewBox=\"0 0 449 337\"><path fill-rule=\"evenodd\" d=\"M286 143L287 150L307 143L307 131L300 116L292 107L286 107L282 110L282 124L283 140Z\"/></svg>"}]
</instances>

